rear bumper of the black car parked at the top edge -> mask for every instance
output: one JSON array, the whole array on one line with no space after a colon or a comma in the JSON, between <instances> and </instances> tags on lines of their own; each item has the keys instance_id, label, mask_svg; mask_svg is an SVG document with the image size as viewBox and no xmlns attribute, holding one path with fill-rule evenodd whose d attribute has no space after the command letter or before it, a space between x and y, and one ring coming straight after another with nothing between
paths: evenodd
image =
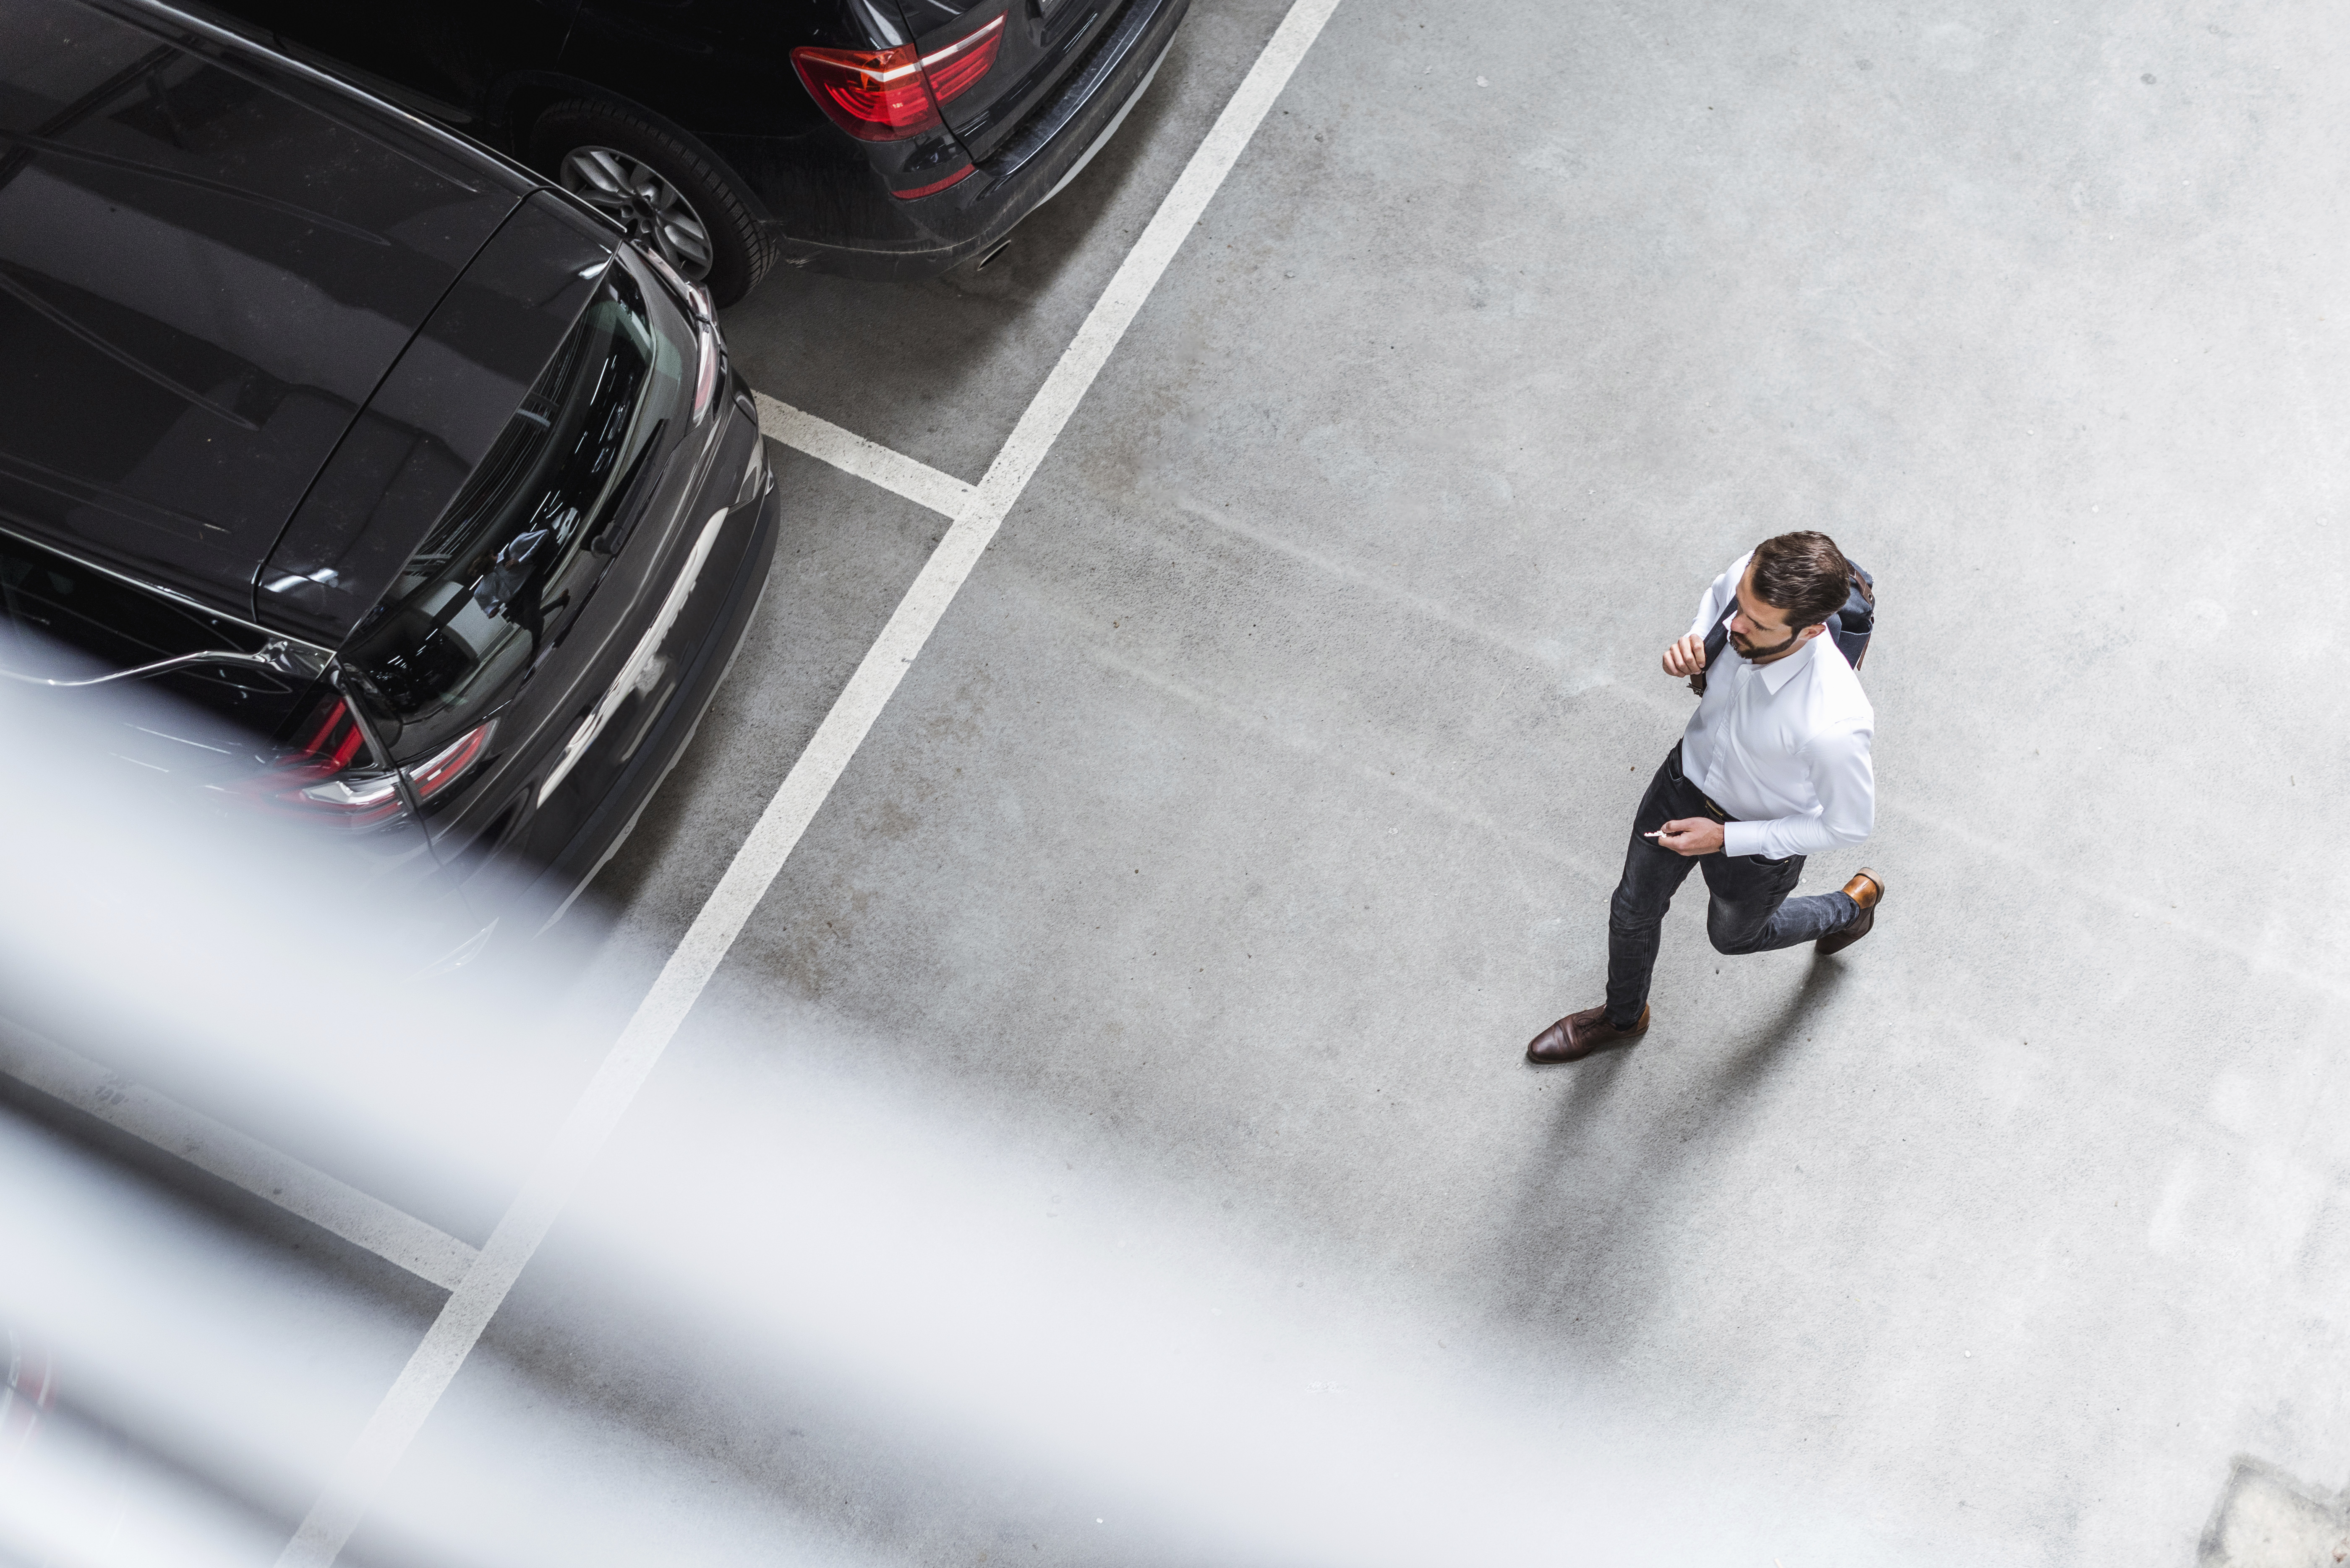
<instances>
[{"instance_id":1,"label":"rear bumper of the black car parked at the top edge","mask_svg":"<svg viewBox=\"0 0 2350 1568\"><path fill-rule=\"evenodd\" d=\"M978 256L1043 207L1083 164L1152 80L1191 0L1130 0L1053 94L978 171L938 195L886 202L865 244L813 239L792 221L768 223L780 265L846 277L916 279Z\"/></svg>"}]
</instances>

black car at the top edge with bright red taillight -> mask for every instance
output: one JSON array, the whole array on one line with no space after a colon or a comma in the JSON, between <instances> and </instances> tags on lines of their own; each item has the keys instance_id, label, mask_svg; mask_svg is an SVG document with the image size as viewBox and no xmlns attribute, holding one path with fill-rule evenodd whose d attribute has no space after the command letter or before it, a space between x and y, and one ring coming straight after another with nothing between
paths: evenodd
<instances>
[{"instance_id":1,"label":"black car at the top edge with bright red taillight","mask_svg":"<svg viewBox=\"0 0 2350 1568\"><path fill-rule=\"evenodd\" d=\"M987 251L1119 127L1189 0L204 5L559 178L731 305L778 261Z\"/></svg>"}]
</instances>

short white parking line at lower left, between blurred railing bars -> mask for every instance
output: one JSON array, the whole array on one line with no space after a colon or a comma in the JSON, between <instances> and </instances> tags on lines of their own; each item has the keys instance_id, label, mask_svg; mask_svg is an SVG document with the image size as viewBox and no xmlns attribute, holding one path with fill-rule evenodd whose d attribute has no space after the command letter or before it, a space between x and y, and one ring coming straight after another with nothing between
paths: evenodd
<instances>
[{"instance_id":1,"label":"short white parking line at lower left, between blurred railing bars","mask_svg":"<svg viewBox=\"0 0 2350 1568\"><path fill-rule=\"evenodd\" d=\"M444 1291L456 1289L477 1256L472 1246L414 1214L14 1023L0 1023L0 1073Z\"/></svg>"}]
</instances>

